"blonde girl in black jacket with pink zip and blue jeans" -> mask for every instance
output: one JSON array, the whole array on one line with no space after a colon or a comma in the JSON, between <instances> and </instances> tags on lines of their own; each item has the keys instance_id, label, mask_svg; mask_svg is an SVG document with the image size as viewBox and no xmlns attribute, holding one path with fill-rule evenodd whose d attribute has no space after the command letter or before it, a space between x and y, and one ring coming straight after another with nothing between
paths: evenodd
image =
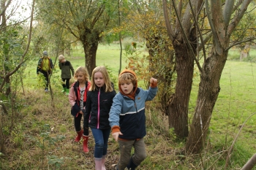
<instances>
[{"instance_id":1,"label":"blonde girl in black jacket with pink zip and blue jeans","mask_svg":"<svg viewBox=\"0 0 256 170\"><path fill-rule=\"evenodd\" d=\"M105 159L108 150L110 125L108 121L110 107L116 91L110 82L108 71L104 66L97 66L91 74L91 88L89 89L84 114L86 133L88 127L95 140L94 161L96 170L105 170Z\"/></svg>"}]
</instances>

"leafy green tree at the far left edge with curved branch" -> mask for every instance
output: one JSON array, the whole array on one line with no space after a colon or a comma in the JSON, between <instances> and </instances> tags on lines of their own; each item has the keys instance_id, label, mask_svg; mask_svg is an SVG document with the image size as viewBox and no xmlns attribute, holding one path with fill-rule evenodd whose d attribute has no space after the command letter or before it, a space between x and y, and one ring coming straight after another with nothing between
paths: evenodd
<instances>
[{"instance_id":1,"label":"leafy green tree at the far left edge with curved branch","mask_svg":"<svg viewBox=\"0 0 256 170\"><path fill-rule=\"evenodd\" d=\"M0 46L1 46L1 53L0 58L3 61L3 65L0 66L0 93L3 92L4 85L7 83L9 84L6 88L5 94L8 96L10 94L10 77L12 74L20 69L20 66L23 64L26 53L29 50L29 45L31 42L31 32L32 32L32 21L33 21L33 12L34 12L34 1L31 7L31 20L29 26L29 36L26 40L24 40L24 36L20 35L20 30L23 29L22 24L23 22L10 22L8 24L7 19L10 18L12 14L6 14L7 9L10 7L12 0L6 1L1 0L1 13L0 13ZM26 37L26 36L25 36ZM26 43L25 49L23 49L23 43ZM17 50L17 51L15 51ZM22 51L20 51L22 50ZM18 53L18 51L21 53ZM21 57L20 57L21 55ZM15 61L12 63L12 61Z\"/></svg>"}]
</instances>

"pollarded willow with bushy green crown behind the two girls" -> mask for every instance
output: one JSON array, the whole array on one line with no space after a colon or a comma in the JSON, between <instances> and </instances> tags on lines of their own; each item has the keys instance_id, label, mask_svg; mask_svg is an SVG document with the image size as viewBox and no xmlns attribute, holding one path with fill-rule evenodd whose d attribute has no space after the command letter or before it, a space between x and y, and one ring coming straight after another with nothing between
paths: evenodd
<instances>
[{"instance_id":1,"label":"pollarded willow with bushy green crown behind the two girls","mask_svg":"<svg viewBox=\"0 0 256 170\"><path fill-rule=\"evenodd\" d=\"M37 3L39 20L69 31L83 45L85 66L91 75L102 32L111 26L117 1L51 0Z\"/></svg>"}]
</instances>

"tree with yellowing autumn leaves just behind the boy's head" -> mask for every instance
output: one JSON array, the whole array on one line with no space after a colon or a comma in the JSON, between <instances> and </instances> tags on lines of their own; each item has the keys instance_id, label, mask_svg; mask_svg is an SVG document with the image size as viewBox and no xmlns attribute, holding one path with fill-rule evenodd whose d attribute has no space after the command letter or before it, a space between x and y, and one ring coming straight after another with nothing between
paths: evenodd
<instances>
[{"instance_id":1,"label":"tree with yellowing autumn leaves just behind the boy's head","mask_svg":"<svg viewBox=\"0 0 256 170\"><path fill-rule=\"evenodd\" d=\"M132 43L125 45L125 55L128 58L129 69L137 72L139 80L148 86L150 77L158 80L159 109L166 111L167 101L173 93L175 79L175 57L173 47L168 39L165 20L162 15L160 1L132 0L122 3L121 26L114 28L113 32L129 32ZM125 35L122 34L124 37ZM146 44L146 52L143 45Z\"/></svg>"}]
</instances>

